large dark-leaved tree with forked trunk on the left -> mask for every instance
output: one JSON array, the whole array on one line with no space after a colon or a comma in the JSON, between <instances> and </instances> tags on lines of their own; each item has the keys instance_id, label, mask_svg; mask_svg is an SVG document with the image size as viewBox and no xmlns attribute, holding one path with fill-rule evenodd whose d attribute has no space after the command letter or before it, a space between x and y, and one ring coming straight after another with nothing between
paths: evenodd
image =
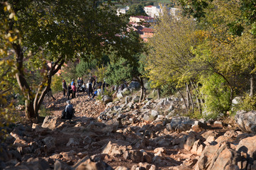
<instances>
[{"instance_id":1,"label":"large dark-leaved tree with forked trunk on the left","mask_svg":"<svg viewBox=\"0 0 256 170\"><path fill-rule=\"evenodd\" d=\"M126 23L116 16L111 4L98 6L96 1L32 1L10 0L1 4L0 22L9 36L8 50L15 54L18 86L26 96L26 117L35 118L50 89L52 76L62 64L74 61L77 55L100 56L124 48L126 42L117 35L126 35ZM13 11L6 11L12 8ZM1 37L1 41L3 37ZM9 56L3 56L9 60ZM52 62L47 67L46 62ZM41 82L32 91L26 79L25 64L40 69Z\"/></svg>"}]
</instances>

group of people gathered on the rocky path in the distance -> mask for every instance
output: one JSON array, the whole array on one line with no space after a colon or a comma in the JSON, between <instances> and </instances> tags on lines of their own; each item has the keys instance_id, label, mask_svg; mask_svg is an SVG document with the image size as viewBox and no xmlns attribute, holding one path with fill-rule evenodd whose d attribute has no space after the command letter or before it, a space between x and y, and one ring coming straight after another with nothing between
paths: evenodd
<instances>
[{"instance_id":1,"label":"group of people gathered on the rocky path in the distance","mask_svg":"<svg viewBox=\"0 0 256 170\"><path fill-rule=\"evenodd\" d=\"M91 98L94 98L99 91L101 91L101 86L103 88L105 87L106 83L102 84L101 81L96 82L93 77L87 81L87 84L84 83L84 80L82 77L77 78L77 84L74 82L74 79L72 79L72 82L68 84L65 80L62 81L62 89L63 89L63 96L66 96L69 100L70 94L72 95L71 98L76 97L77 92L87 93L88 96L91 96ZM99 89L99 90L98 90ZM95 91L94 91L95 90Z\"/></svg>"}]
</instances>

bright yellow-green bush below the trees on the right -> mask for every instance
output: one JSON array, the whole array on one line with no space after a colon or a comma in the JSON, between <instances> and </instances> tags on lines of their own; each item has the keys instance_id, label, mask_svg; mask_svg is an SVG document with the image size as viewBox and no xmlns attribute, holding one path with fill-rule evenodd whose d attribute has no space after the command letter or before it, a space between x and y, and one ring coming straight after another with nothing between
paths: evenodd
<instances>
[{"instance_id":1,"label":"bright yellow-green bush below the trees on the right","mask_svg":"<svg viewBox=\"0 0 256 170\"><path fill-rule=\"evenodd\" d=\"M220 113L230 110L230 89L226 80L218 74L211 74L209 77L201 77L199 81L201 94L204 95L204 111L211 118L216 118Z\"/></svg>"}]
</instances>

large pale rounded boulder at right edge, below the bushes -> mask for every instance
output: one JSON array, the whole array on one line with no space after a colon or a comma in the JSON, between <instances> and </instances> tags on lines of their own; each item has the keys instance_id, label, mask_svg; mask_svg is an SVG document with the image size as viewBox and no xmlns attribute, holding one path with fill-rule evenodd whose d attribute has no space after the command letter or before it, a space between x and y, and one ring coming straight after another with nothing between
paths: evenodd
<instances>
[{"instance_id":1,"label":"large pale rounded boulder at right edge, below the bushes","mask_svg":"<svg viewBox=\"0 0 256 170\"><path fill-rule=\"evenodd\" d=\"M235 115L235 123L244 132L256 133L256 111L238 111Z\"/></svg>"}]
</instances>

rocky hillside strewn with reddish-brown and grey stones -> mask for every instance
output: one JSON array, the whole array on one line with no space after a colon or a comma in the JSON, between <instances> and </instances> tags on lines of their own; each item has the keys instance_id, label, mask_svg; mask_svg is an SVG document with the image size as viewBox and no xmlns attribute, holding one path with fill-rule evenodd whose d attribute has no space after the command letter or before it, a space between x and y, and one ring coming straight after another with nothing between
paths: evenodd
<instances>
[{"instance_id":1,"label":"rocky hillside strewn with reddish-brown and grey stones","mask_svg":"<svg viewBox=\"0 0 256 170\"><path fill-rule=\"evenodd\" d=\"M0 169L256 169L256 113L238 113L238 128L179 115L180 98L123 94L114 102L78 94L72 120L60 119L66 98L46 98L52 115L8 128Z\"/></svg>"}]
</instances>

